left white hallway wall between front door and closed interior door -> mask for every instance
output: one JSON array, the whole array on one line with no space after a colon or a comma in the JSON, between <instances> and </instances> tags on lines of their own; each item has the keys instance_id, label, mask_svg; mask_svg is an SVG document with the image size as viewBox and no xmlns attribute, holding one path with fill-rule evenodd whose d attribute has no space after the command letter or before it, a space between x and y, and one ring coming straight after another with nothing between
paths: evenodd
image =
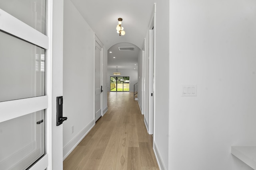
<instances>
[{"instance_id":1,"label":"left white hallway wall between front door and closed interior door","mask_svg":"<svg viewBox=\"0 0 256 170\"><path fill-rule=\"evenodd\" d=\"M94 125L94 32L70 0L64 1L63 58L65 158Z\"/></svg>"}]
</instances>

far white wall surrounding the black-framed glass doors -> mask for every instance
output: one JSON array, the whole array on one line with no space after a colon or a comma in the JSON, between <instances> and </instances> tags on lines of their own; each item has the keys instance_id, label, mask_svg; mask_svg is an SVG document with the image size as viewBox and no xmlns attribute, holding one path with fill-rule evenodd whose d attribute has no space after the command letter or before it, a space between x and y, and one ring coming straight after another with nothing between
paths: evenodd
<instances>
[{"instance_id":1,"label":"far white wall surrounding the black-framed glass doors","mask_svg":"<svg viewBox=\"0 0 256 170\"><path fill-rule=\"evenodd\" d=\"M107 78L107 84L108 84L108 92L110 91L110 76L114 76L113 72L115 70L108 70L108 78ZM121 72L121 77L130 77L130 92L134 92L134 84L138 82L138 70L137 69L119 69L118 71Z\"/></svg>"}]
</instances>

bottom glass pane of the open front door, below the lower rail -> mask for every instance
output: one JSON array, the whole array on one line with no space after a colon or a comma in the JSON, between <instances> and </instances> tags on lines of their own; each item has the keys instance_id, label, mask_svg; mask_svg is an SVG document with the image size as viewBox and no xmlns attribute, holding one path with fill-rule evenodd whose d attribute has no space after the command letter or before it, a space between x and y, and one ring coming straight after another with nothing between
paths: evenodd
<instances>
[{"instance_id":1,"label":"bottom glass pane of the open front door, below the lower rail","mask_svg":"<svg viewBox=\"0 0 256 170\"><path fill-rule=\"evenodd\" d=\"M2 170L26 169L45 153L45 110L0 123Z\"/></svg>"}]
</instances>

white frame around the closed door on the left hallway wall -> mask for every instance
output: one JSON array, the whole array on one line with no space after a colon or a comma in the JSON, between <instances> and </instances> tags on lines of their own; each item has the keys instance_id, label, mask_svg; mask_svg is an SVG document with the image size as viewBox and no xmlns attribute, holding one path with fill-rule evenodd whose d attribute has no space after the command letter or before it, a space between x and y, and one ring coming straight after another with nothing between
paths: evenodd
<instances>
[{"instance_id":1,"label":"white frame around the closed door on the left hallway wall","mask_svg":"<svg viewBox=\"0 0 256 170\"><path fill-rule=\"evenodd\" d=\"M103 77L102 77L102 70L103 70L103 44L100 41L100 39L97 37L97 35L94 33L94 47L96 48L96 44L98 44L101 47L101 52L100 52L100 84L102 86L102 82L103 82ZM95 50L94 50L94 92L95 92ZM103 116L103 93L100 94L100 107L101 107L101 116ZM95 93L94 93L94 124L96 122L96 117L95 117Z\"/></svg>"}]
</instances>

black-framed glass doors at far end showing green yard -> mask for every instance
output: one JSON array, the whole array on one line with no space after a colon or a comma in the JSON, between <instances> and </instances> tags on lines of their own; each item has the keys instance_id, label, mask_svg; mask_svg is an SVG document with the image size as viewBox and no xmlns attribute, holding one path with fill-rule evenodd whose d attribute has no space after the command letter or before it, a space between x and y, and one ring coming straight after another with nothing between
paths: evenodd
<instances>
[{"instance_id":1,"label":"black-framed glass doors at far end showing green yard","mask_svg":"<svg viewBox=\"0 0 256 170\"><path fill-rule=\"evenodd\" d=\"M110 92L129 92L130 77L110 77Z\"/></svg>"}]
</instances>

